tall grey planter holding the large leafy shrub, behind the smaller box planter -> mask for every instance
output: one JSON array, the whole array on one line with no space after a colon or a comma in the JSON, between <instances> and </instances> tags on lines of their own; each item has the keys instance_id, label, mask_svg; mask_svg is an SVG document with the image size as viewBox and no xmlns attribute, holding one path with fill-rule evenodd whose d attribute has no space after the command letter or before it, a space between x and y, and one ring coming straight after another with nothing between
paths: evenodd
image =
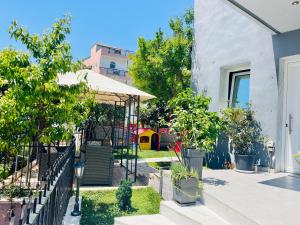
<instances>
[{"instance_id":1,"label":"tall grey planter holding the large leafy shrub, behind the smaller box planter","mask_svg":"<svg viewBox=\"0 0 300 225\"><path fill-rule=\"evenodd\" d=\"M188 148L182 152L183 163L190 170L197 172L199 179L202 179L203 159L205 153L198 149Z\"/></svg>"}]
</instances>

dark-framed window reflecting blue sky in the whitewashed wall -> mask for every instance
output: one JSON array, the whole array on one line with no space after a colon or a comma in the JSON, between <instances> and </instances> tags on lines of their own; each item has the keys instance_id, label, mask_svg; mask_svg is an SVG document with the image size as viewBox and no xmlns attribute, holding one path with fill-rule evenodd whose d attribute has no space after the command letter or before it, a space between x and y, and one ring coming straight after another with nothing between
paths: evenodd
<instances>
[{"instance_id":1,"label":"dark-framed window reflecting blue sky in the whitewashed wall","mask_svg":"<svg viewBox=\"0 0 300 225\"><path fill-rule=\"evenodd\" d=\"M228 107L248 108L250 97L250 70L229 74Z\"/></svg>"}]
</instances>

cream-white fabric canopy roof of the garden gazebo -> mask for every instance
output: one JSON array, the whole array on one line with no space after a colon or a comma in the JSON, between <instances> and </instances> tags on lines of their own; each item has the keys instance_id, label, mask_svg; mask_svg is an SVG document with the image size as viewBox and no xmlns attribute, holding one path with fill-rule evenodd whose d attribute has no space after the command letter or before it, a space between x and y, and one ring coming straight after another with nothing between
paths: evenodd
<instances>
[{"instance_id":1,"label":"cream-white fabric canopy roof of the garden gazebo","mask_svg":"<svg viewBox=\"0 0 300 225\"><path fill-rule=\"evenodd\" d=\"M87 82L91 93L95 93L95 101L114 104L117 101L126 101L131 97L140 97L140 101L155 98L135 87L121 83L92 70L79 70L76 73L67 73L59 76L60 85L75 85Z\"/></svg>"}]
</instances>

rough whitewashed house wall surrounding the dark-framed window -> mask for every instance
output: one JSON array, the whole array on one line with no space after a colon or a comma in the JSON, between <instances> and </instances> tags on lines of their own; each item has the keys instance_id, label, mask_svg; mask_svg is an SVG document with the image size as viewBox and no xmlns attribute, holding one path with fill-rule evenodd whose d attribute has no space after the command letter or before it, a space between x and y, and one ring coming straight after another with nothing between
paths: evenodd
<instances>
[{"instance_id":1,"label":"rough whitewashed house wall surrounding the dark-framed window","mask_svg":"<svg viewBox=\"0 0 300 225\"><path fill-rule=\"evenodd\" d=\"M264 134L276 141L278 87L271 31L226 0L196 0L193 63L193 86L212 97L213 111L227 106L228 72L250 69L250 102Z\"/></svg>"}]
</instances>

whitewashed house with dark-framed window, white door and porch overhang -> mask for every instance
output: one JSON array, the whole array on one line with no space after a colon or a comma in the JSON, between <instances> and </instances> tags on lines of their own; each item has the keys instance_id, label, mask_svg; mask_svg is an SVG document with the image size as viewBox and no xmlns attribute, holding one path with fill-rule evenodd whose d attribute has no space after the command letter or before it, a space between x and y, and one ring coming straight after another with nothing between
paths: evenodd
<instances>
[{"instance_id":1,"label":"whitewashed house with dark-framed window, white door and porch overhang","mask_svg":"<svg viewBox=\"0 0 300 225\"><path fill-rule=\"evenodd\" d=\"M212 111L251 104L275 146L273 161L266 146L257 147L257 164L273 162L277 171L300 172L293 158L300 151L299 54L298 1L195 1L193 87L212 97ZM228 153L219 143L208 161L224 167Z\"/></svg>"}]
</instances>

